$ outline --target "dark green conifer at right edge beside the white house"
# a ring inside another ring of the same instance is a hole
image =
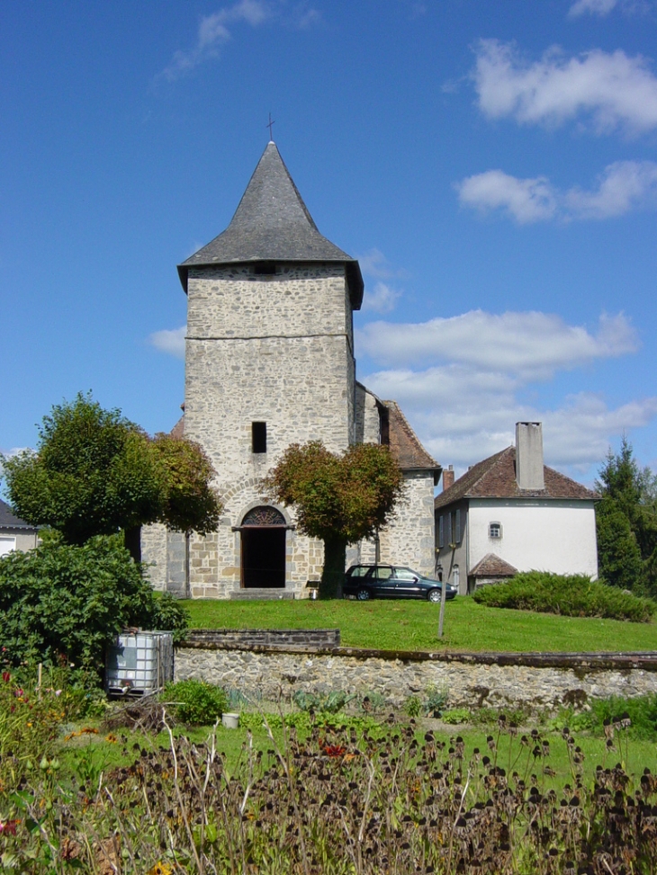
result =
[[[637,464],[624,437],[608,452],[596,481],[599,574],[623,589],[657,592],[657,512],[655,478]]]

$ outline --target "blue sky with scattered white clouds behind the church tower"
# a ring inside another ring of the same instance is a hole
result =
[[[175,271],[274,138],[361,260],[358,376],[463,470],[544,423],[657,469],[657,2],[4,0],[0,451],[184,397]]]

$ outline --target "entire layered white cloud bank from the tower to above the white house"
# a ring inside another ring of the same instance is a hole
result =
[[[554,409],[523,398],[532,384],[558,371],[637,349],[622,314],[600,317],[594,333],[552,314],[477,310],[419,325],[378,322],[356,336],[358,353],[388,366],[365,384],[379,397],[399,401],[428,450],[458,473],[509,446],[514,424],[522,420],[544,423],[549,464],[598,464],[613,437],[657,415],[657,397],[609,408],[603,397],[580,393]]]

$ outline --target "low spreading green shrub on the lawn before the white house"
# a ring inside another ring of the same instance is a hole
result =
[[[544,571],[529,571],[504,584],[483,586],[473,599],[491,608],[632,622],[650,622],[657,608],[651,599],[638,598],[585,575],[554,575]]]

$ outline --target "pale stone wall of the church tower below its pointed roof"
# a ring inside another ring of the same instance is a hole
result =
[[[193,596],[239,588],[244,514],[266,504],[261,479],[294,442],[347,449],[354,435],[351,307],[343,265],[247,265],[190,272],[184,433],[202,444],[224,500],[219,531],[190,544]],[[266,452],[252,451],[253,422]],[[289,524],[293,518],[284,513]],[[286,588],[319,579],[322,545],[286,533]]]

